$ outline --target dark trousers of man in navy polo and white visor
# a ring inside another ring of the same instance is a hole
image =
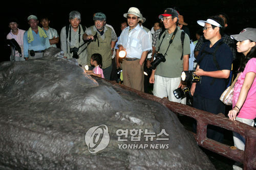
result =
[[[213,114],[225,113],[225,105],[219,99],[206,99],[199,95],[193,96],[193,107]],[[193,132],[197,132],[196,122],[193,124]],[[220,127],[208,125],[207,138],[223,142],[223,129]]]

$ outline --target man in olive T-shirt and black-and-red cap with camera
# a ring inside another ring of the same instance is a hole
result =
[[[173,93],[175,89],[186,86],[180,76],[182,70],[188,70],[190,54],[189,37],[177,27],[178,16],[178,12],[172,8],[165,9],[164,13],[159,15],[166,30],[157,40],[157,53],[156,59],[152,62],[150,83],[154,83],[155,96],[159,98],[168,96],[169,101],[185,104],[185,98],[177,99]]]

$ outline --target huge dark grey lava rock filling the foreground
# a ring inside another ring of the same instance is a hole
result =
[[[62,56],[49,48],[41,59],[0,63],[1,169],[214,169],[173,112]],[[92,127],[108,128],[91,134],[95,145],[85,141]],[[127,141],[118,139],[121,129]],[[133,129],[140,141],[132,141]],[[168,140],[146,140],[146,130],[162,129]],[[93,153],[103,140],[106,148]]]

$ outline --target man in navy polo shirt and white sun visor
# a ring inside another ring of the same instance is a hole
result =
[[[225,113],[225,105],[220,101],[220,96],[226,89],[226,79],[229,77],[232,53],[230,47],[223,42],[221,33],[224,22],[218,15],[207,20],[198,20],[203,27],[206,40],[197,56],[197,69],[194,72],[201,76],[200,82],[191,85],[193,107],[210,113]],[[196,124],[193,125],[196,132]],[[223,141],[221,128],[207,126],[207,137],[216,141]]]

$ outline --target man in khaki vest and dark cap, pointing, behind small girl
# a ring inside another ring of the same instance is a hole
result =
[[[110,80],[112,71],[112,54],[117,40],[116,33],[106,25],[106,15],[97,12],[93,16],[94,25],[83,34],[83,40],[88,42],[87,64],[91,65],[91,56],[98,53],[102,56],[102,69],[105,79]]]

